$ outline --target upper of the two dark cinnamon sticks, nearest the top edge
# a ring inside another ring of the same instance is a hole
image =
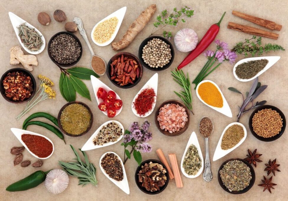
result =
[[[281,28],[282,28],[282,25],[276,24],[275,22],[272,22],[270,20],[262,19],[262,18],[259,18],[259,17],[255,17],[255,16],[252,16],[252,15],[241,13],[241,12],[238,12],[238,11],[232,11],[232,14],[237,16],[237,17],[240,17],[242,19],[246,19],[248,21],[251,21],[254,24],[258,24],[260,26],[263,26],[263,27],[265,27],[267,29],[270,29],[270,30],[274,30],[275,29],[275,30],[280,31]]]

